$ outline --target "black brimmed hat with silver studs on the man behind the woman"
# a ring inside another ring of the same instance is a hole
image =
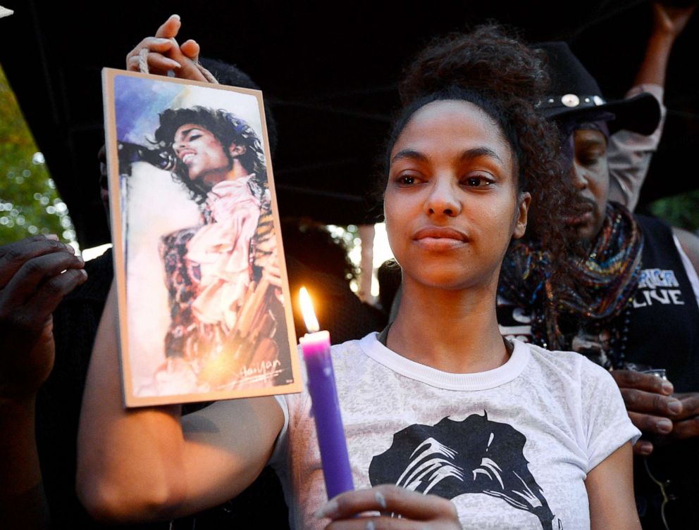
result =
[[[537,44],[548,56],[547,69],[551,77],[550,96],[539,101],[538,108],[546,118],[569,120],[586,115],[614,114],[608,125],[610,132],[629,130],[652,134],[660,122],[660,103],[652,94],[638,94],[629,99],[607,102],[602,91],[583,64],[565,42]],[[594,119],[594,118],[593,118]]]

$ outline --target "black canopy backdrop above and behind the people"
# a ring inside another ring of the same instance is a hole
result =
[[[495,19],[530,41],[561,39],[609,98],[623,96],[643,58],[650,4],[633,0],[272,2],[239,0],[0,0],[0,63],[35,134],[82,248],[109,240],[99,201],[101,68],[171,13],[179,42],[235,63],[262,87],[278,123],[274,173],[282,215],[358,223],[397,108],[397,77],[428,39]],[[695,15],[677,40],[666,85],[667,124],[641,203],[698,187],[699,50]]]

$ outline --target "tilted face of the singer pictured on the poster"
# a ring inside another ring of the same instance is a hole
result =
[[[175,156],[187,166],[191,180],[202,179],[213,185],[225,179],[230,171],[230,158],[221,142],[200,125],[187,123],[178,128],[173,150]]]

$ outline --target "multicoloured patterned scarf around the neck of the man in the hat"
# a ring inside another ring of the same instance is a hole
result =
[[[540,343],[569,349],[560,327],[562,317],[599,323],[619,315],[638,285],[641,248],[643,234],[629,210],[607,203],[604,224],[587,258],[571,258],[572,277],[564,290],[553,288],[550,255],[527,242],[506,256],[498,291],[532,311],[532,334]]]

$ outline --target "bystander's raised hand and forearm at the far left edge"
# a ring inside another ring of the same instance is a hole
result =
[[[35,398],[54,365],[51,313],[85,282],[82,259],[56,236],[0,246],[0,520],[48,528]]]

